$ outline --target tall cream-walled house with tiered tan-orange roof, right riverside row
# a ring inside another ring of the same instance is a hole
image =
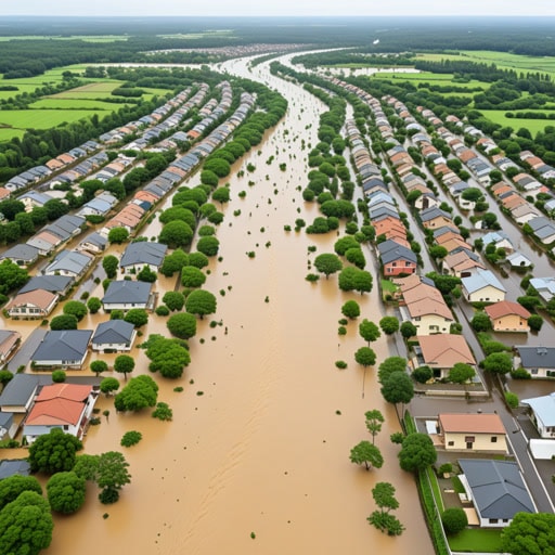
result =
[[[404,302],[404,307],[400,307],[401,315],[414,324],[417,335],[449,332],[454,318],[435,286],[413,275],[401,285],[401,295]]]

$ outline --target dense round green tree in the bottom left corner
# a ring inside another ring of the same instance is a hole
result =
[[[0,511],[0,553],[38,555],[52,542],[53,528],[48,501],[24,491]]]

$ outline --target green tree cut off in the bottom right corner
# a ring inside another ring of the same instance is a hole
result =
[[[501,548],[511,555],[554,555],[555,515],[517,513],[501,533]]]

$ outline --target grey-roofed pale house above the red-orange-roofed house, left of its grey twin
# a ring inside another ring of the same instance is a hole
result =
[[[92,330],[47,332],[31,357],[31,364],[79,370],[87,358],[91,337]]]

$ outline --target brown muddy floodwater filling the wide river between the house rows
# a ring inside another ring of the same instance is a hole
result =
[[[377,321],[377,294],[341,293],[336,276],[307,282],[308,261],[333,251],[337,236],[283,229],[318,215],[296,188],[307,183],[309,146],[302,151],[301,139],[307,145],[318,142],[325,106],[270,76],[266,64],[253,73],[243,60],[223,67],[268,81],[286,96],[289,109],[260,154],[255,149],[228,180],[232,201],[218,229],[222,260],[211,262],[205,285],[218,298],[214,320],[221,325],[199,322],[183,377],[158,378],[158,400],[172,408],[173,422],[154,420],[150,412],[116,414],[112,400],[100,400],[101,413],[108,408],[111,414],[89,429],[86,452],[124,451],[132,482],[115,505],[101,505],[90,487],[78,514],[55,517],[53,541],[43,553],[430,555],[414,478],[400,470],[399,448],[389,440],[400,429],[395,410],[382,399],[376,369],[369,369],[363,384],[363,370],[353,360],[364,346],[358,323],[348,324],[346,336],[337,334],[348,299],[361,305],[361,318]],[[274,160],[267,164],[270,156]],[[246,171],[248,163],[255,171]],[[279,168],[283,163],[285,171]],[[152,225],[155,230],[157,222]],[[153,233],[147,228],[143,234]],[[310,245],[318,247],[315,254],[308,251]],[[164,332],[165,320],[151,315],[145,335]],[[380,361],[392,345],[380,338],[373,348]],[[134,348],[132,354],[134,373],[147,373],[143,351]],[[336,369],[337,360],[348,367]],[[176,392],[176,386],[184,390]],[[349,462],[349,452],[371,439],[364,426],[371,409],[386,417],[376,438],[385,464],[365,472]],[[141,431],[143,439],[126,449],[119,441],[128,430]],[[406,527],[400,538],[366,522],[377,481],[397,488],[397,516]]]

